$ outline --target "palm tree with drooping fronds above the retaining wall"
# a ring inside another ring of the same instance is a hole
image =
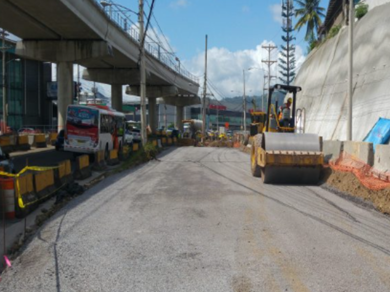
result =
[[[300,6],[295,9],[295,17],[300,17],[295,24],[298,31],[306,25],[305,40],[315,37],[318,27],[322,24],[321,17],[325,17],[325,8],[319,7],[320,0],[295,0]]]

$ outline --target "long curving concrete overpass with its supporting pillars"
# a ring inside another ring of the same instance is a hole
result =
[[[0,0],[0,27],[22,39],[16,53],[57,63],[59,129],[72,103],[75,63],[87,68],[84,79],[111,84],[115,109],[122,108],[122,85],[139,95],[139,38],[128,20],[124,13],[106,12],[98,0]],[[154,42],[145,42],[152,128],[157,97],[176,105],[178,112],[199,100],[197,78],[163,50]]]

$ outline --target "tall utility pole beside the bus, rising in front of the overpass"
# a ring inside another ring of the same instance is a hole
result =
[[[139,12],[138,12],[138,22],[139,22],[139,54],[140,54],[140,95],[141,95],[141,139],[142,145],[145,146],[148,142],[148,136],[146,133],[146,71],[145,71],[145,46],[142,43],[144,38],[144,21],[143,21],[143,0],[139,0]]]

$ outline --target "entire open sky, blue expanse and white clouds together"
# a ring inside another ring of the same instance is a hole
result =
[[[116,3],[138,10],[137,0]],[[321,0],[320,5],[327,8],[328,3],[329,0]],[[147,3],[145,12],[149,13]],[[155,0],[154,15],[182,66],[200,78],[204,74],[205,35],[208,35],[208,79],[219,92],[211,89],[217,99],[242,94],[243,70],[246,70],[247,94],[262,92],[264,72],[247,69],[265,68],[261,60],[267,55],[261,45],[282,44],[281,0]],[[160,35],[155,20],[152,26]],[[295,36],[297,67],[307,52],[304,33],[302,29]],[[278,58],[276,50],[272,58]],[[278,74],[276,69],[274,66],[273,74]]]

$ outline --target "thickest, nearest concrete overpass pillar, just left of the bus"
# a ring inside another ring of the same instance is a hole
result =
[[[66,108],[73,103],[73,63],[57,64],[57,81],[58,130],[61,130],[65,128]]]

